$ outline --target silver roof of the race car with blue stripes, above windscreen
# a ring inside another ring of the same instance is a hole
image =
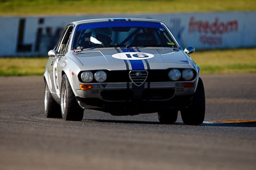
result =
[[[161,20],[153,20],[147,18],[99,18],[99,19],[91,19],[91,20],[78,20],[71,22],[70,24],[79,25],[86,24],[90,22],[120,22],[120,21],[143,21],[143,22],[162,22]]]

